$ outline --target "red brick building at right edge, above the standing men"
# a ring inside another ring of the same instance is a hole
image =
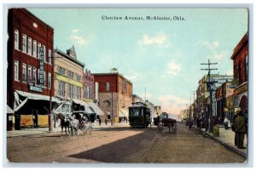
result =
[[[234,108],[247,110],[247,81],[248,81],[248,33],[241,38],[231,56],[234,67]]]

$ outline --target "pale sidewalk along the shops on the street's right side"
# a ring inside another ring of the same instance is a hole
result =
[[[219,128],[219,136],[215,137],[213,134],[209,134],[206,132],[205,128],[197,129],[201,131],[201,134],[205,134],[210,136],[213,140],[217,140],[221,145],[224,145],[225,147],[229,148],[232,151],[236,151],[236,153],[240,154],[242,157],[247,157],[247,149],[238,149],[235,145],[235,132],[233,132],[230,129],[225,129],[223,126],[218,125]],[[244,147],[247,147],[247,136],[244,136],[243,141]]]

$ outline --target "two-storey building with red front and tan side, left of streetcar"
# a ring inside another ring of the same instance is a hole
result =
[[[119,122],[128,117],[128,107],[132,102],[132,83],[115,73],[95,73],[96,100],[104,115],[102,119]]]

